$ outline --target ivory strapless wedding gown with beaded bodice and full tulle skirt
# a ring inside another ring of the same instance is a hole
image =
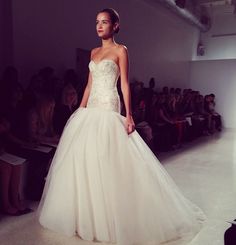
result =
[[[128,135],[118,65],[91,61],[86,108],[68,120],[39,205],[42,226],[89,241],[158,245],[193,237],[204,220],[139,134]]]

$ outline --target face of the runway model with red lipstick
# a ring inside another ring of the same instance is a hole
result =
[[[106,39],[114,34],[115,25],[112,24],[110,15],[101,12],[97,15],[96,30],[99,37]]]

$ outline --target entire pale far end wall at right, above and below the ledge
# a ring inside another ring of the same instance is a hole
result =
[[[222,114],[224,126],[236,128],[236,18],[232,6],[215,6],[209,9],[212,28],[201,33],[205,55],[193,55],[190,69],[190,87],[203,94],[214,93],[217,110]]]

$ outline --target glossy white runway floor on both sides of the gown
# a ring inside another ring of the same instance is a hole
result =
[[[208,217],[203,229],[189,245],[223,245],[224,232],[230,226],[227,221],[236,218],[236,131],[226,130],[203,137],[181,150],[162,153],[159,159],[185,196],[201,207]],[[32,205],[37,207],[37,203]],[[35,213],[0,217],[0,243],[95,244],[44,230],[36,222]]]

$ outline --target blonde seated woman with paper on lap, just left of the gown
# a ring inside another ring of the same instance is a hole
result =
[[[24,149],[24,156],[31,163],[28,165],[25,188],[26,196],[30,200],[41,198],[45,177],[55,152],[55,145],[59,141],[59,136],[53,128],[54,107],[55,100],[53,97],[41,95],[36,105],[27,114],[26,139],[30,144],[35,145],[35,147]],[[50,146],[47,152],[40,150],[42,145]]]

